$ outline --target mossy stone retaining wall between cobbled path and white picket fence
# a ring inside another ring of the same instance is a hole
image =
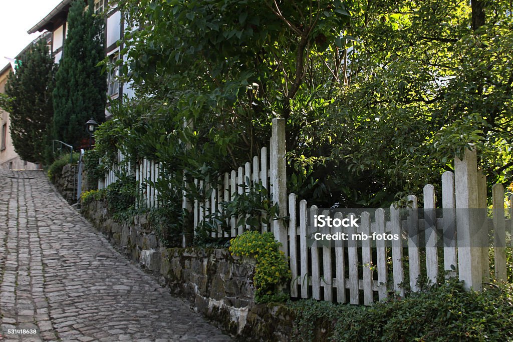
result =
[[[233,257],[226,249],[162,248],[145,216],[117,223],[103,201],[83,205],[81,212],[127,257],[221,329],[244,341],[290,340],[292,312],[254,303],[254,260]]]

